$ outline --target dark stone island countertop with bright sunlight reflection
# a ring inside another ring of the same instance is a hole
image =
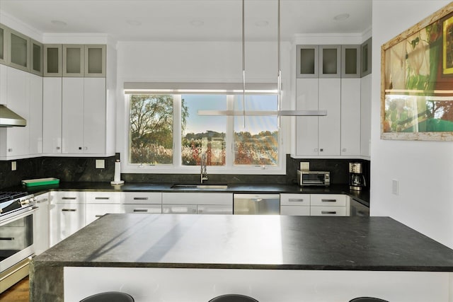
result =
[[[389,217],[107,214],[33,262],[453,272],[453,250]]]

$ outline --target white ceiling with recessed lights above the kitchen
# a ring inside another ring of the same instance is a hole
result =
[[[241,0],[0,0],[1,13],[40,33],[105,33],[118,41],[240,40],[241,10]],[[245,0],[245,20],[246,40],[275,40],[277,0]],[[364,33],[371,20],[371,0],[281,0],[282,40]]]

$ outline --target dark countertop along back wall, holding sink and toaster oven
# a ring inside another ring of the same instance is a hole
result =
[[[369,207],[369,191],[350,191],[349,185],[331,185],[330,187],[299,187],[299,185],[280,184],[228,184],[227,189],[171,188],[173,183],[129,182],[124,185],[110,185],[110,182],[60,182],[59,185],[28,187],[33,194],[48,190],[85,190],[113,192],[231,192],[231,193],[290,193],[290,194],[348,194],[358,202]],[[8,190],[23,190],[23,187],[12,187]]]

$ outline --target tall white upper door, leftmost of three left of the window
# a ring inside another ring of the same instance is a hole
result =
[[[42,153],[62,153],[62,78],[42,79]]]

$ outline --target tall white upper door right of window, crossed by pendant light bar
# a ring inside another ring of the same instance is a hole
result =
[[[297,79],[297,110],[318,110],[318,85],[319,79]],[[318,155],[318,119],[319,117],[296,117],[296,155]]]

